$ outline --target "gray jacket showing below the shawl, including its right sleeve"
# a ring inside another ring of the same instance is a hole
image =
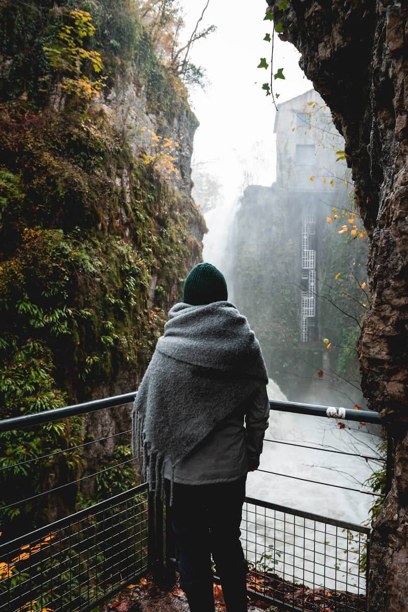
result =
[[[174,482],[204,485],[245,476],[249,465],[259,465],[268,418],[266,387],[260,383],[249,400],[218,422],[209,435],[177,464]],[[171,478],[168,461],[165,461],[164,475]]]

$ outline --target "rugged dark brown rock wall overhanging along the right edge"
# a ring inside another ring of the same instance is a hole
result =
[[[408,608],[408,2],[288,0],[278,13],[281,37],[302,53],[302,69],[344,136],[368,232],[362,388],[396,441],[391,491],[373,521],[368,600],[370,612],[401,612]]]

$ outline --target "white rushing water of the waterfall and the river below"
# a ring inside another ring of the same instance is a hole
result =
[[[220,267],[227,282],[228,228],[237,206],[231,202],[206,217],[209,233],[204,239],[204,261]],[[272,380],[268,395],[270,400],[291,400]],[[366,524],[373,496],[360,490],[366,490],[363,483],[379,464],[359,455],[375,457],[378,438],[367,433],[364,425],[346,425],[340,428],[337,420],[326,417],[271,411],[259,471],[248,474],[247,496],[320,517]],[[308,482],[311,480],[319,483]],[[248,507],[244,512],[241,526],[243,539],[251,541],[249,559],[259,559],[266,548],[275,551],[270,561],[273,570],[284,573],[287,580],[314,586],[317,572],[317,583],[324,581],[325,588],[361,591],[365,586],[358,572],[358,554],[364,552],[360,535],[300,517],[292,518],[293,524],[288,525],[288,515],[273,510],[265,510],[255,524],[253,510]],[[284,542],[279,544],[283,531]]]

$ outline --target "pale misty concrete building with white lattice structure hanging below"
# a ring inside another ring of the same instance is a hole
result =
[[[278,105],[276,134],[276,186],[295,198],[302,214],[299,236],[302,284],[300,341],[316,340],[316,274],[318,256],[317,203],[333,201],[333,192],[344,191],[344,161],[336,159],[343,138],[336,131],[330,111],[314,89]],[[343,166],[343,167],[341,167]],[[342,177],[342,178],[341,178]],[[341,185],[339,185],[339,183]]]

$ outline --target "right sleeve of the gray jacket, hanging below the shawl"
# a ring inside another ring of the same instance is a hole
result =
[[[245,444],[250,463],[259,463],[265,431],[268,428],[268,419],[269,400],[266,386],[261,384],[259,389],[251,395],[247,412],[245,412]]]

